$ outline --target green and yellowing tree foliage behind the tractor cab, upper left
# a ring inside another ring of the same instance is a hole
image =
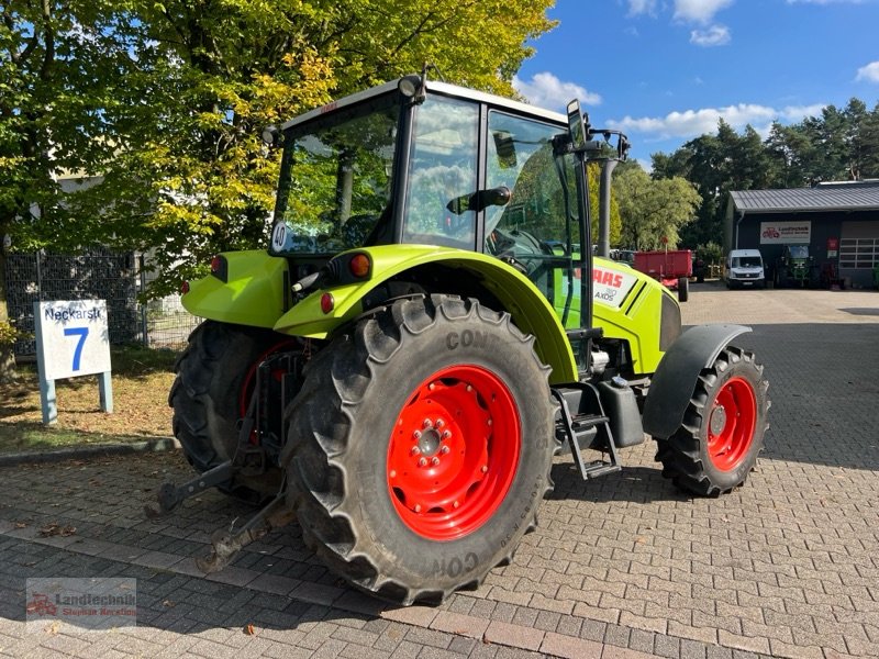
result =
[[[448,81],[514,96],[525,44],[553,26],[552,5],[7,0],[0,237],[19,249],[155,247],[164,277],[154,292],[176,289],[210,254],[264,237],[278,169],[259,143],[264,125],[425,62]],[[63,172],[100,179],[63,196]],[[0,279],[0,323],[7,313]]]

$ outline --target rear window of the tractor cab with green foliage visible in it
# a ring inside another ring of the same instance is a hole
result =
[[[396,98],[329,113],[285,135],[271,254],[360,247],[389,220]]]

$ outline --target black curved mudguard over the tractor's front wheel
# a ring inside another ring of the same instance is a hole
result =
[[[730,342],[750,332],[744,325],[698,325],[685,332],[666,351],[644,402],[644,432],[667,439],[680,427],[697,378]]]

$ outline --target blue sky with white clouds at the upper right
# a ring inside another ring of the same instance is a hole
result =
[[[515,88],[671,153],[723,118],[761,135],[858,98],[879,102],[879,0],[556,0]]]

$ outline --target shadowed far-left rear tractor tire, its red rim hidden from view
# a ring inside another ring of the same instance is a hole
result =
[[[189,345],[175,366],[177,377],[168,404],[174,407],[174,436],[198,472],[234,457],[236,424],[246,413],[256,367],[289,343],[289,337],[270,330],[215,321],[204,321],[189,336]],[[277,478],[266,482],[277,490]],[[240,482],[227,482],[220,489],[254,502],[267,494]]]

